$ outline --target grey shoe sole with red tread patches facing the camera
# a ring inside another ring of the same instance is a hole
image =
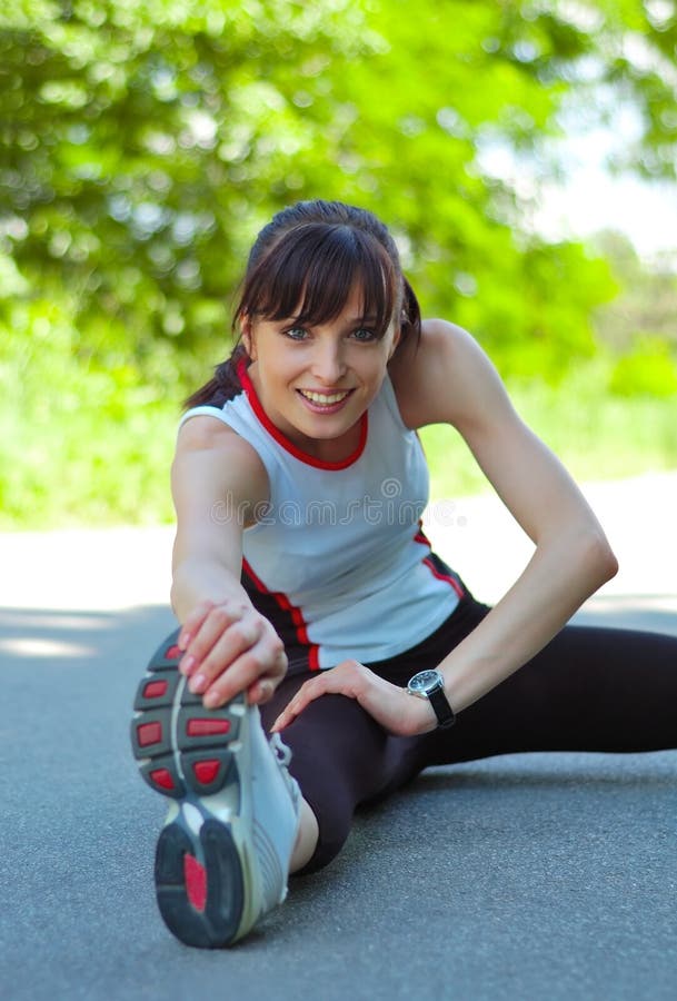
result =
[[[227,786],[240,799],[246,703],[240,695],[206,710],[179,673],[178,635],[179,630],[156,651],[137,688],[131,744],[143,780],[170,800],[155,863],[162,920],[187,945],[218,949],[240,938],[250,921],[250,866],[238,815],[242,804],[225,823],[209,802]]]

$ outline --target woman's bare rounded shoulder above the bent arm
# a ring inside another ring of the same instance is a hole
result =
[[[425,320],[418,346],[402,345],[390,363],[402,419],[409,427],[505,417],[510,403],[502,381],[480,345],[462,327]]]

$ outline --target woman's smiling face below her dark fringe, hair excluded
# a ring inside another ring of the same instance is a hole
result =
[[[263,409],[293,444],[325,459],[354,449],[399,339],[392,321],[378,329],[364,303],[356,284],[340,311],[322,323],[296,316],[242,321],[249,376]]]

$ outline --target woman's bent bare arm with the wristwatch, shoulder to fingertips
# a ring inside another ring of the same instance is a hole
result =
[[[617,563],[583,494],[520,420],[496,369],[465,330],[428,321],[419,349],[407,345],[396,358],[391,375],[405,423],[414,428],[454,425],[536,545],[507,594],[439,665],[449,702],[459,712],[538,653],[616,573]],[[296,696],[281,725],[323,688],[358,698],[392,732],[434,729],[429,705],[386,688],[370,674],[352,662],[333,678],[313,680],[308,692]]]

